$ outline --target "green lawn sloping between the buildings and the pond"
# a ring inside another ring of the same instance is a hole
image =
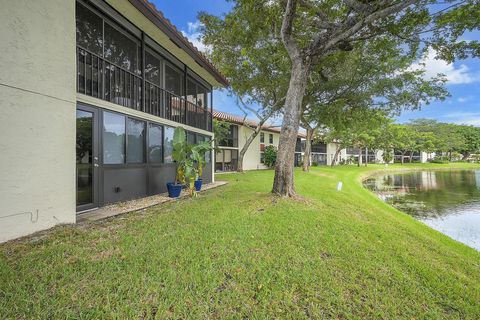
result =
[[[0,318],[479,319],[480,253],[363,189],[375,170],[298,171],[303,201],[272,197],[272,171],[228,174],[194,200],[0,245]]]

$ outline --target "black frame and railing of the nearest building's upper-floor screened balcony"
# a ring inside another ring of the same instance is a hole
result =
[[[154,39],[145,35],[140,28],[130,23],[108,4],[77,0],[75,5],[82,6],[86,11],[99,18],[102,25],[101,55],[95,56],[97,53],[90,53],[90,51],[87,48],[84,48],[81,43],[76,42],[78,93],[139,110],[179,124],[189,125],[209,132],[213,131],[213,88],[206,80],[171,55],[168,50],[164,49]],[[136,58],[134,59],[135,68],[133,68],[133,70],[115,64],[110,58],[105,58],[105,24],[128,38],[128,40],[134,42]],[[152,82],[152,79],[147,79],[145,72],[146,53],[160,60],[160,84]],[[174,118],[172,118],[172,115],[167,110],[169,107],[165,102],[165,94],[153,94],[154,99],[156,99],[156,104],[148,105],[149,101],[146,101],[147,98],[145,91],[150,90],[146,84],[147,82],[158,86],[159,89],[156,90],[161,89],[167,91],[166,66],[179,75],[180,87],[179,92],[175,92],[175,95],[182,99],[179,103],[179,108],[185,109],[181,111],[181,116]],[[91,72],[89,72],[90,69],[92,70]],[[132,73],[132,75],[125,74],[125,72]],[[194,104],[198,107],[199,95],[203,96],[204,101],[201,107],[204,108],[204,110],[198,108],[187,110],[187,78],[195,83]],[[119,87],[120,90],[117,91],[116,88]],[[157,105],[159,105],[158,108],[156,107]]]

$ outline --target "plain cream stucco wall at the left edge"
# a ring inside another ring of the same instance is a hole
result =
[[[75,1],[0,10],[0,242],[75,222]]]

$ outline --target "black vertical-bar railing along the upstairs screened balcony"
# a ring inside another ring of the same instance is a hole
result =
[[[208,108],[166,91],[80,47],[77,47],[77,92],[195,128],[213,130],[212,113]]]

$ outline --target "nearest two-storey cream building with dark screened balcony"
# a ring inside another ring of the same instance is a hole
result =
[[[173,129],[212,139],[227,81],[146,0],[8,1],[0,30],[0,241],[165,192]]]

